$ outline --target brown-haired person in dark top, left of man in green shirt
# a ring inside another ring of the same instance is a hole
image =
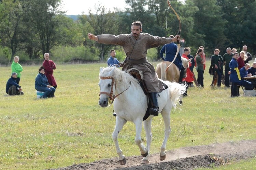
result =
[[[217,86],[221,87],[221,77],[223,74],[223,60],[222,57],[219,55],[219,49],[214,50],[214,55],[211,57],[211,65],[214,67],[218,75],[218,83]]]

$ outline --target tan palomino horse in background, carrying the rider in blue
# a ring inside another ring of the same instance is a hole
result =
[[[187,60],[186,58],[181,57],[181,60],[182,60],[182,65],[185,68],[185,73],[187,73],[187,68],[188,68],[189,62],[192,60],[192,58]],[[158,77],[162,80],[168,80],[170,82],[177,82],[177,81],[179,81],[180,70],[175,64],[172,63],[172,65],[168,68],[168,70],[165,74],[165,70],[170,64],[171,64],[171,62],[168,62],[168,61],[159,63],[156,67],[156,73],[157,73]],[[182,96],[180,97],[179,103],[180,104],[182,103]]]

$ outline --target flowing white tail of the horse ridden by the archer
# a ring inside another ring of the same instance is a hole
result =
[[[169,87],[168,89],[172,106],[176,108],[176,104],[179,101],[181,95],[186,92],[186,85],[169,81],[165,81],[165,84],[167,84]]]

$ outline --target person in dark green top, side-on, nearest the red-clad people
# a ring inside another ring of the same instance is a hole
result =
[[[195,60],[196,60],[196,70],[197,70],[197,82],[198,84],[203,87],[203,73],[204,73],[204,59],[201,57],[201,55],[203,54],[203,49],[199,48],[197,50],[197,53],[196,53],[196,57],[195,57]]]

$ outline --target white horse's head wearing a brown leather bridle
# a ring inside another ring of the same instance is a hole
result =
[[[112,69],[111,69],[112,68]],[[99,105],[101,107],[108,106],[108,101],[112,100],[112,97],[115,93],[115,86],[114,86],[114,71],[115,67],[108,67],[108,68],[100,68],[100,100]],[[111,71],[109,71],[111,70]],[[109,72],[107,72],[109,71]]]

